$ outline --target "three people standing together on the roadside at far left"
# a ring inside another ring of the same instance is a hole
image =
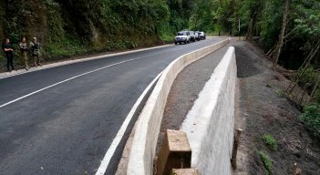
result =
[[[15,70],[14,67],[14,57],[15,57],[15,49],[14,46],[10,43],[9,38],[5,38],[5,43],[2,46],[2,49],[5,52],[5,57],[6,57],[6,70],[8,72],[11,72],[12,70]],[[19,43],[19,49],[21,56],[25,60],[25,68],[28,70],[29,64],[28,64],[28,56],[31,55],[35,59],[35,66],[42,67],[40,63],[40,44],[36,41],[36,37],[32,39],[30,42],[29,46],[26,44],[26,37],[22,36],[20,43]]]

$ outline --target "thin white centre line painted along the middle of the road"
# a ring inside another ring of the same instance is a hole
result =
[[[157,54],[155,54],[155,55],[150,55],[150,56],[145,56],[145,57],[151,57],[151,56],[156,56],[156,55],[157,55]],[[94,73],[94,72],[97,72],[97,71],[99,71],[99,70],[102,70],[102,69],[105,69],[105,68],[108,68],[108,67],[114,67],[114,66],[117,66],[117,65],[120,65],[120,64],[123,64],[123,63],[127,63],[127,62],[130,62],[130,61],[138,60],[138,59],[145,58],[145,57],[132,58],[132,59],[129,59],[129,60],[126,60],[126,61],[121,61],[121,62],[119,62],[119,63],[115,63],[115,64],[112,64],[112,65],[109,65],[109,66],[106,66],[106,67],[100,67],[100,68],[97,68],[97,69],[95,69],[95,70],[88,71],[88,72],[86,72],[86,73],[80,74],[80,75],[75,76],[75,77],[67,78],[67,79],[65,79],[65,80],[63,80],[63,81],[57,82],[57,83],[55,83],[55,84],[53,84],[53,85],[50,85],[50,86],[48,86],[48,87],[46,87],[46,88],[41,88],[41,89],[38,89],[38,90],[36,90],[36,91],[34,91],[34,92],[31,92],[31,93],[29,93],[29,94],[27,94],[26,96],[23,96],[23,97],[21,97],[21,98],[15,98],[14,100],[9,101],[9,102],[1,105],[0,108],[4,108],[4,107],[6,107],[6,106],[8,106],[8,105],[10,105],[10,104],[12,104],[12,103],[15,103],[16,101],[19,101],[19,100],[21,100],[21,99],[30,97],[30,96],[32,96],[32,95],[35,95],[36,93],[39,93],[39,92],[41,92],[41,91],[44,91],[44,90],[46,90],[46,89],[48,89],[48,88],[56,87],[57,85],[60,85],[60,84],[62,84],[62,83],[65,83],[65,82],[67,82],[67,81],[70,81],[70,80],[72,80],[72,79],[75,79],[75,78],[77,78],[77,77],[83,77],[83,76],[86,76],[86,75],[88,75],[88,74],[90,74],[90,73]]]

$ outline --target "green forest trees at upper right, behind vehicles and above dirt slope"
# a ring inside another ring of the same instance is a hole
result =
[[[320,102],[319,18],[318,0],[196,0],[190,26],[256,41],[274,64],[299,69],[293,81]]]

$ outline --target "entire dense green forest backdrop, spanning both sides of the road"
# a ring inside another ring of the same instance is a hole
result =
[[[274,63],[297,70],[294,82],[316,101],[319,19],[319,0],[4,0],[0,37],[16,45],[21,36],[36,36],[43,58],[51,61],[172,42],[183,28],[243,36]],[[16,64],[22,64],[16,54]]]

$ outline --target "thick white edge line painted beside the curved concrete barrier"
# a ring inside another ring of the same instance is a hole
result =
[[[108,168],[108,163],[110,162],[113,154],[115,153],[115,151],[116,151],[116,149],[117,149],[117,147],[119,145],[119,142],[123,138],[123,135],[125,134],[126,129],[128,128],[128,125],[129,125],[129,122],[130,122],[131,118],[135,114],[135,112],[136,112],[137,108],[139,107],[139,104],[141,103],[142,99],[147,95],[147,93],[150,90],[150,88],[157,82],[157,80],[160,77],[160,75],[161,75],[161,73],[152,80],[150,85],[142,92],[142,94],[140,95],[140,97],[138,98],[138,100],[136,101],[134,106],[129,111],[129,114],[128,114],[127,118],[124,120],[124,122],[122,123],[121,128],[119,129],[116,138],[113,139],[110,147],[107,150],[107,153],[106,153],[105,157],[101,161],[101,164],[100,164],[100,166],[98,168],[98,171],[96,172],[96,175],[103,175],[106,172],[106,170]]]

